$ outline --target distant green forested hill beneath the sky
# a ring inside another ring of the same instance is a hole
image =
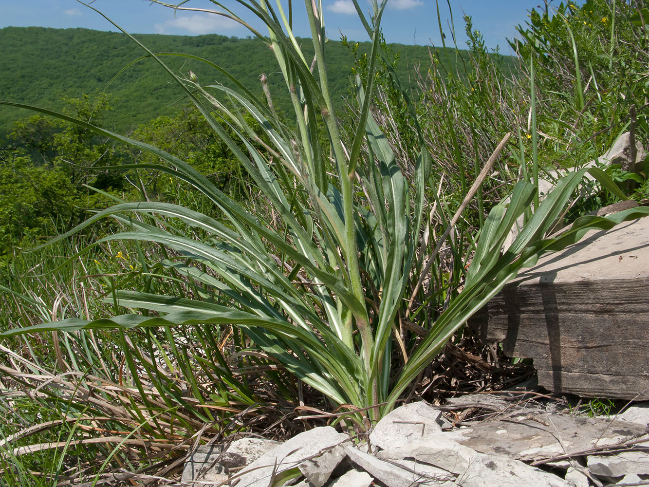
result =
[[[167,36],[140,34],[136,36],[154,52],[186,53],[206,58],[227,69],[253,92],[262,95],[259,76],[267,73],[271,94],[285,91],[277,73],[275,59],[260,40],[229,38],[217,34],[203,36]],[[64,97],[79,98],[95,94],[122,68],[144,53],[127,36],[117,32],[89,29],[45,29],[42,27],[6,27],[0,29],[0,99],[29,103],[60,110]],[[305,53],[310,40],[302,42]],[[360,52],[369,43],[360,45]],[[398,71],[405,82],[414,82],[412,68],[428,69],[428,47],[391,45],[400,52]],[[455,53],[451,54],[453,58]],[[210,84],[223,75],[196,60],[165,57],[175,72],[194,71],[201,84]],[[328,44],[329,76],[334,99],[342,104],[347,95],[354,55],[339,41]],[[424,71],[425,72],[425,71]],[[409,81],[410,80],[410,81]],[[126,69],[107,89],[114,108],[106,123],[118,131],[128,131],[140,123],[162,114],[171,114],[182,105],[178,86],[151,58]],[[282,106],[282,100],[276,103]],[[286,101],[284,101],[286,106]],[[12,122],[29,115],[25,110],[0,106],[0,140],[12,129]]]

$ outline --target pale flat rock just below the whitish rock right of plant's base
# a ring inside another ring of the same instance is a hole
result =
[[[380,451],[376,456],[382,460],[392,461],[411,458],[459,474],[469,468],[478,453],[440,434],[432,440],[417,440],[410,445]]]

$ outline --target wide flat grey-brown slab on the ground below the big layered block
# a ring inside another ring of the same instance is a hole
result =
[[[578,453],[596,445],[615,445],[643,433],[641,425],[627,421],[537,414],[479,423],[443,432],[441,436],[480,453],[496,453],[525,461]]]

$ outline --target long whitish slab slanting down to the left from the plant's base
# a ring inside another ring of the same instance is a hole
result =
[[[329,426],[314,428],[293,436],[271,451],[260,456],[241,473],[238,487],[267,487],[275,473],[297,468],[311,457],[322,456],[327,450],[345,441],[349,436]]]

